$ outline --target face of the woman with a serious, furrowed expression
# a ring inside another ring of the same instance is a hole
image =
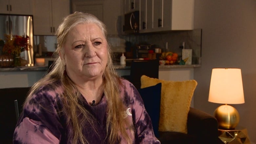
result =
[[[74,80],[101,78],[107,65],[107,40],[94,23],[78,24],[66,37],[64,57],[68,76]]]

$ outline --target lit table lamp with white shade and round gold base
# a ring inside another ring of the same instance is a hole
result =
[[[240,116],[238,111],[227,104],[245,103],[241,69],[212,69],[209,102],[225,104],[214,111],[221,129],[235,129]]]

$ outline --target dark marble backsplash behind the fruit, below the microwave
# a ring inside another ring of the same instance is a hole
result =
[[[193,57],[201,57],[202,29],[126,35],[124,39],[130,41],[133,47],[145,44],[155,45],[162,52],[172,51],[177,52],[178,55],[181,55],[182,43],[184,42],[185,49],[192,49]]]

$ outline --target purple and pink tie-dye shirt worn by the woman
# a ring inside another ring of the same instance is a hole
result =
[[[137,144],[160,144],[155,137],[151,120],[146,112],[143,101],[137,89],[127,80],[122,80],[120,86],[120,96],[123,99],[126,109],[122,110],[124,118],[127,118],[132,127],[135,127],[135,134],[127,129],[127,133]],[[25,103],[13,135],[13,143],[21,144],[57,144],[72,143],[72,128],[66,124],[66,116],[61,112],[63,103],[59,93],[63,93],[62,86],[53,89],[50,86],[42,87],[33,94],[28,103]],[[107,100],[103,95],[101,101],[96,106],[90,106],[81,95],[79,102],[95,118],[92,125],[85,125],[82,133],[88,143],[107,144],[106,118],[108,112]],[[120,137],[120,143],[126,143]]]

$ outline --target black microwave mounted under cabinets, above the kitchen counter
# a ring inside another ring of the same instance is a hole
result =
[[[139,10],[124,14],[125,33],[138,33],[139,32]]]

